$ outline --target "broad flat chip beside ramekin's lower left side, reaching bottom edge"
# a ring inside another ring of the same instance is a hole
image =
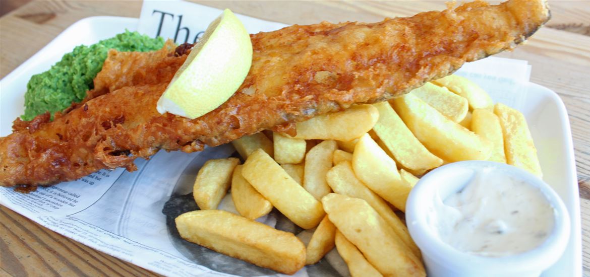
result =
[[[330,193],[322,204],[342,235],[384,276],[425,276],[422,262],[365,200]]]

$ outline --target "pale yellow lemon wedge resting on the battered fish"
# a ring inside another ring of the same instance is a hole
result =
[[[235,93],[252,64],[250,34],[230,9],[192,48],[158,100],[158,112],[191,119],[215,110]]]

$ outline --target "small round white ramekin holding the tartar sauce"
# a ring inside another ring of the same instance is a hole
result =
[[[434,226],[428,223],[429,217],[437,212],[436,200],[444,200],[463,188],[473,177],[474,169],[490,166],[538,187],[555,208],[555,226],[542,245],[517,255],[478,256],[461,252],[443,242]],[[405,216],[409,233],[422,250],[428,276],[539,276],[561,257],[570,226],[568,211],[547,183],[525,170],[493,161],[460,161],[425,174],[408,196]]]

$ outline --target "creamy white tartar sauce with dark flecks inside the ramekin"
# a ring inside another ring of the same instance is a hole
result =
[[[438,202],[431,224],[440,238],[480,256],[536,248],[555,225],[553,206],[539,189],[493,167],[477,170],[463,189]]]

